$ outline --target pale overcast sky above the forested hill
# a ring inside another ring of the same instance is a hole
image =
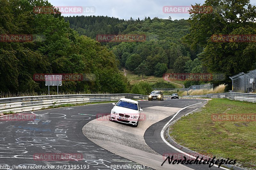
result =
[[[88,7],[84,10],[88,13],[74,14],[62,14],[63,16],[76,16],[76,15],[100,15],[117,17],[121,19],[134,19],[145,17],[158,17],[167,19],[169,16],[172,19],[188,19],[188,13],[164,13],[164,6],[188,7],[191,4],[203,4],[204,0],[48,0],[54,6],[81,6]],[[256,0],[251,0],[252,5],[256,5]],[[72,10],[71,10],[72,11]]]

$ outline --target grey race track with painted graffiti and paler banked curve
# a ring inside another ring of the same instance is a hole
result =
[[[27,166],[27,169],[34,166],[35,169],[54,170],[209,169],[207,165],[175,166],[168,162],[161,166],[164,161],[162,155],[174,152],[160,137],[164,125],[180,108],[205,101],[169,98],[140,101],[142,113],[153,116],[140,121],[137,128],[104,118],[113,107],[111,103],[27,112],[16,114],[16,117],[1,116],[0,169],[26,169],[19,165]],[[203,104],[184,109],[175,119]],[[84,136],[83,127],[84,134],[91,140]],[[120,133],[116,133],[117,130]],[[123,148],[122,152],[117,152],[117,148]],[[220,168],[212,166],[210,169]]]

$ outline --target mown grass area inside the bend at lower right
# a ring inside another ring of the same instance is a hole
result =
[[[237,159],[256,169],[256,122],[214,122],[212,114],[255,114],[255,103],[212,99],[200,111],[185,116],[170,128],[170,135],[189,149],[217,158]]]

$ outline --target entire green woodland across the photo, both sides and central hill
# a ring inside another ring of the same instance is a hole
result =
[[[137,92],[122,67],[139,75],[224,73],[229,76],[256,68],[255,42],[213,42],[213,34],[256,34],[256,7],[249,0],[207,0],[222,6],[211,13],[191,13],[188,20],[73,16],[35,13],[46,0],[0,0],[0,34],[38,34],[45,40],[0,42],[0,92],[46,92],[35,73],[93,74],[88,81],[63,81],[62,92]],[[98,42],[98,34],[145,34],[143,42]],[[190,81],[187,85],[206,82]],[[148,91],[147,90],[147,91]],[[146,92],[146,91],[145,91]]]

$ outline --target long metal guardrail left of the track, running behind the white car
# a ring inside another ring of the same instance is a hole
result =
[[[0,98],[0,114],[4,112],[28,112],[39,110],[43,107],[62,104],[78,104],[98,101],[113,101],[121,98],[127,99],[148,99],[148,96],[141,94],[72,94],[54,96],[27,96]]]

